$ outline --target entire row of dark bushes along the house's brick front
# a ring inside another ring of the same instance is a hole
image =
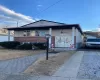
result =
[[[46,49],[46,43],[24,43],[20,44],[17,41],[5,41],[0,42],[0,46],[7,49],[20,49],[20,50],[31,50],[31,49]]]

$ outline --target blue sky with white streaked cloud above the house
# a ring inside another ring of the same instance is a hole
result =
[[[40,19],[80,24],[82,30],[100,27],[100,0],[57,1],[0,0],[0,27],[16,27],[17,23],[21,26]]]

